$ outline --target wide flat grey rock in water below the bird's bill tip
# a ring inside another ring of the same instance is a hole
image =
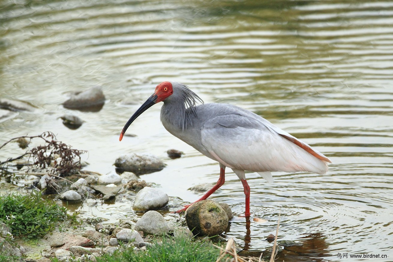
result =
[[[116,159],[115,166],[120,171],[129,171],[136,175],[149,174],[162,170],[165,164],[151,154],[121,155]]]

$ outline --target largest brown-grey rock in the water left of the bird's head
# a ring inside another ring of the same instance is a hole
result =
[[[80,111],[98,112],[104,106],[105,96],[101,87],[92,87],[83,92],[71,94],[70,99],[63,103],[68,109],[77,109]]]

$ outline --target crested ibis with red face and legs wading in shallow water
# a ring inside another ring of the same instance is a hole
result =
[[[249,217],[250,186],[245,170],[257,172],[268,182],[273,182],[270,172],[323,174],[331,163],[329,158],[261,116],[234,105],[205,104],[187,86],[174,81],[157,85],[154,94],[125,124],[119,140],[140,114],[161,101],[160,118],[165,129],[220,164],[217,184],[195,202],[206,199],[224,184],[225,168],[228,167],[243,184],[246,195],[244,216]],[[196,105],[197,102],[201,104]],[[190,205],[176,212],[185,211]]]

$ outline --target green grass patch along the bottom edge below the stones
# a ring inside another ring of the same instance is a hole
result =
[[[152,244],[146,251],[135,252],[134,249],[127,248],[113,255],[97,257],[97,262],[215,262],[220,255],[219,249],[206,240],[163,236]]]

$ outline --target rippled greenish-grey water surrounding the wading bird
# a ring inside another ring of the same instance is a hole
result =
[[[191,202],[199,196],[187,188],[214,184],[219,166],[165,131],[159,105],[131,125],[137,137],[118,141],[158,83],[179,81],[205,102],[260,114],[333,162],[327,175],[277,172],[272,184],[246,174],[252,216],[268,222],[231,223],[226,236],[245,254],[272,245],[264,239],[281,213],[280,239],[303,247],[288,248],[280,261],[359,260],[349,257],[355,254],[393,261],[392,24],[391,1],[3,0],[0,96],[35,110],[0,111],[0,144],[52,131],[88,150],[88,170],[99,173],[113,171],[121,153],[153,153],[168,166],[143,179]],[[94,85],[107,98],[101,111],[62,107],[68,92]],[[85,122],[67,129],[58,119],[64,113]],[[185,156],[169,159],[170,148]],[[20,152],[10,145],[0,159]],[[211,199],[244,212],[242,185],[230,170]],[[83,211],[110,221],[133,214],[110,203]]]

